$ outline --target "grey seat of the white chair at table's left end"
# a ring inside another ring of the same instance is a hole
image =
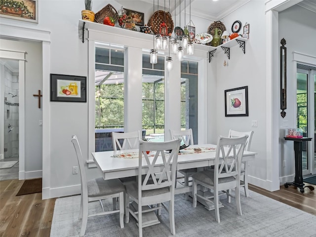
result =
[[[88,197],[100,197],[125,191],[124,185],[118,179],[91,179],[87,182]]]

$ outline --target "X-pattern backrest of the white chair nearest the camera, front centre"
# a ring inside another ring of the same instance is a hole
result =
[[[174,186],[178,151],[181,139],[167,142],[146,142],[140,141],[139,145],[139,191],[154,190]],[[169,154],[166,151],[171,150]],[[146,151],[150,151],[148,155]],[[155,154],[153,156],[153,154]],[[145,160],[145,162],[144,162]],[[148,167],[145,178],[142,178],[143,165]],[[162,163],[162,172],[156,172],[155,167]],[[174,189],[174,187],[173,187]]]

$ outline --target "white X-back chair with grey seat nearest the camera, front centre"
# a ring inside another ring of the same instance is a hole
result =
[[[165,208],[169,212],[170,232],[175,235],[174,188],[180,142],[180,139],[167,142],[140,141],[138,180],[125,185],[125,223],[129,222],[129,213],[131,213],[138,222],[139,237],[143,235],[143,212],[158,210],[159,214],[161,208]],[[170,154],[165,152],[168,150],[171,150]],[[150,154],[147,154],[146,151],[150,151]],[[156,172],[155,165],[161,162],[163,170]],[[146,173],[142,176],[144,170]],[[130,197],[138,205],[136,210],[130,208]],[[166,201],[169,202],[168,208],[163,203]],[[157,206],[154,207],[155,204]],[[149,205],[151,205],[150,209],[144,208],[143,210],[143,206],[148,207]]]

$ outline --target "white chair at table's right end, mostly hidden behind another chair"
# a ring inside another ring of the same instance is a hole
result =
[[[241,132],[235,130],[229,130],[228,137],[242,137],[244,135],[248,135],[245,151],[250,151],[251,139],[254,131],[249,132]],[[242,161],[241,163],[241,179],[240,179],[240,187],[244,187],[245,196],[249,197],[249,189],[248,189],[248,170],[249,170],[249,161]]]

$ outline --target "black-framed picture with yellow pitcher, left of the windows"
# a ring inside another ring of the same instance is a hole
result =
[[[50,74],[50,101],[86,102],[86,77]]]

